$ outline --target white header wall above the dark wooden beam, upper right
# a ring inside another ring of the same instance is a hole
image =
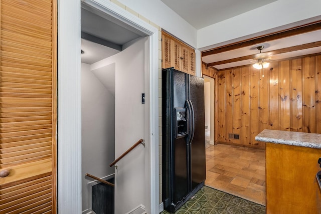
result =
[[[198,30],[197,48],[208,50],[320,19],[319,0],[278,0]]]

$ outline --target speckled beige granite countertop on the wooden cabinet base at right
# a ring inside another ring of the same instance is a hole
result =
[[[321,149],[321,134],[264,129],[255,140]]]

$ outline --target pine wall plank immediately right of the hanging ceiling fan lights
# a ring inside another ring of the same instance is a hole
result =
[[[270,83],[269,83],[269,129],[279,130],[279,72],[278,63],[270,63]]]

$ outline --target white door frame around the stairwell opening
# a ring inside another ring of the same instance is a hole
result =
[[[81,213],[81,3],[148,36],[145,86],[150,96],[146,139],[147,213],[159,213],[158,29],[110,1],[58,0],[58,213]]]

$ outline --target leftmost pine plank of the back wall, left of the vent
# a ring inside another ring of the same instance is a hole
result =
[[[219,142],[226,141],[226,92],[225,92],[225,71],[218,72],[218,118],[219,118]]]

